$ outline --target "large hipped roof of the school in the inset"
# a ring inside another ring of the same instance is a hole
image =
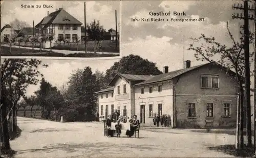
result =
[[[75,17],[70,15],[67,11],[60,8],[59,10],[50,13],[48,16],[44,17],[35,27],[39,24],[44,24],[44,28],[48,28],[50,24],[82,24]]]

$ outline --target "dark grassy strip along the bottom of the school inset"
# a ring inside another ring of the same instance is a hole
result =
[[[59,52],[50,52],[49,50],[33,50],[27,48],[12,48],[12,53],[10,54],[10,47],[2,46],[1,56],[40,56],[40,57],[75,57],[75,58],[90,58],[90,57],[116,57],[119,55],[109,55],[109,54],[94,54],[94,53],[73,53],[73,54],[62,54]]]

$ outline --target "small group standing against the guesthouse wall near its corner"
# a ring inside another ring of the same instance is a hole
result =
[[[162,115],[154,114],[153,118],[154,125],[159,127],[161,124],[162,127],[170,127],[171,126],[171,120],[170,115]]]

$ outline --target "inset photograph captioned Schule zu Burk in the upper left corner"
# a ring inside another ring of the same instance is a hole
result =
[[[120,1],[2,2],[1,56],[120,56],[119,8]]]

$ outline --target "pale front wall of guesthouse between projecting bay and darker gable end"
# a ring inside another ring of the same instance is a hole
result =
[[[158,85],[162,85],[162,91],[158,92]],[[153,92],[149,93],[149,88],[153,87]],[[144,88],[144,94],[141,94]],[[153,115],[158,114],[158,103],[162,103],[162,115],[170,115],[173,118],[173,88],[168,82],[135,87],[135,113],[141,120],[141,104],[145,105],[145,123],[153,124],[153,117],[150,117],[149,104],[153,104]],[[143,123],[143,122],[141,122]]]

